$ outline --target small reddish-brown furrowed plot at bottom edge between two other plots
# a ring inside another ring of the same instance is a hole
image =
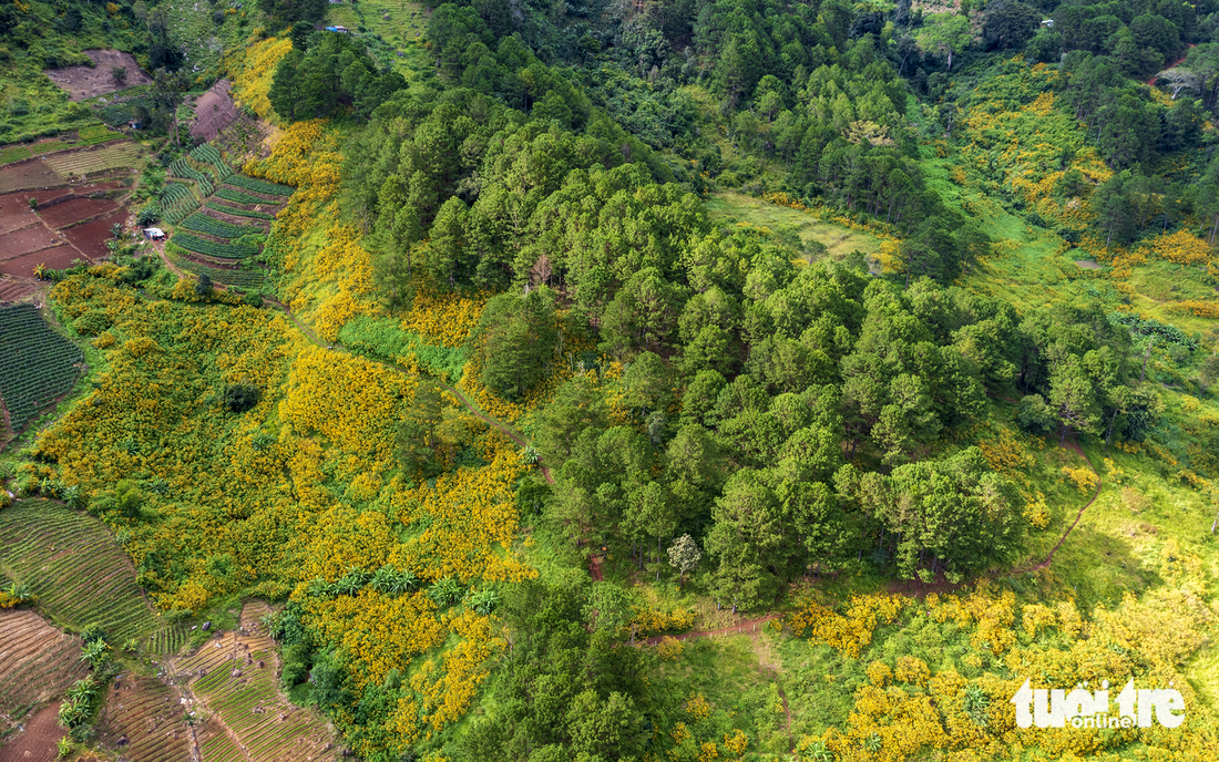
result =
[[[178,694],[156,678],[115,678],[98,718],[99,745],[132,762],[190,758],[190,729]]]

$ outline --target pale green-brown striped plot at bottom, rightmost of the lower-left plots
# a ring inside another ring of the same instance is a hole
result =
[[[321,718],[279,693],[274,641],[258,623],[268,611],[266,604],[247,602],[241,629],[217,635],[194,656],[174,663],[176,673],[190,675],[190,691],[211,713],[207,725],[216,724],[204,728],[204,760],[335,760],[333,739]],[[244,755],[229,756],[233,741],[226,744],[222,730],[240,744]]]

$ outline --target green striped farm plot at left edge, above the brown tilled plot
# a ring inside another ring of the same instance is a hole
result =
[[[98,623],[110,643],[161,627],[135,585],[127,554],[87,513],[46,500],[0,511],[0,563],[30,586],[54,619],[73,627]]]

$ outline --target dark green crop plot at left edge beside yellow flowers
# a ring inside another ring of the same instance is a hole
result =
[[[80,350],[51,330],[33,305],[0,307],[0,397],[21,430],[72,389]]]

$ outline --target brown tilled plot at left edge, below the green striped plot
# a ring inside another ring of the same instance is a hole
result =
[[[12,722],[89,672],[80,639],[28,610],[0,610],[0,718]]]

